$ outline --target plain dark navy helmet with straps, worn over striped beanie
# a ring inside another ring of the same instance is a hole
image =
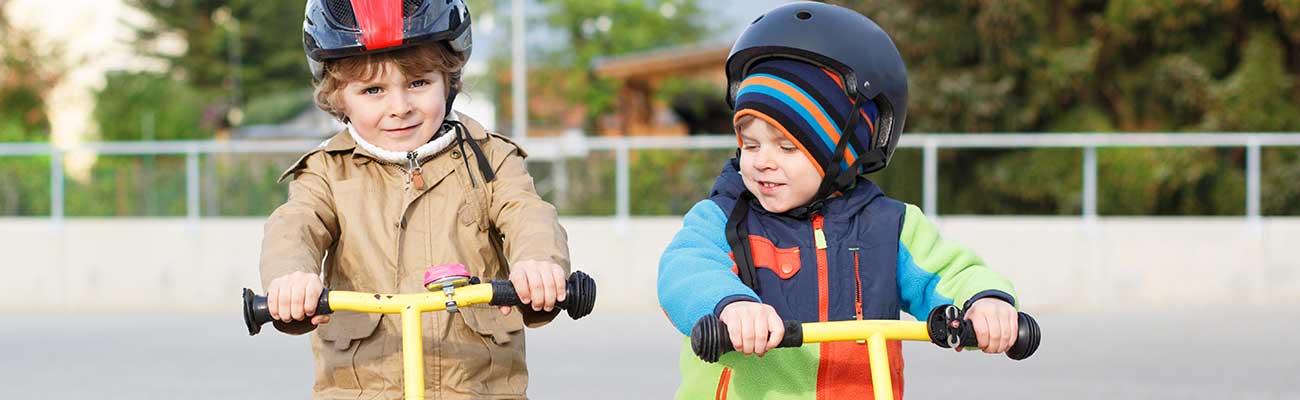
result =
[[[840,126],[846,134],[837,140],[833,156],[822,165],[826,175],[816,195],[807,204],[784,213],[807,218],[820,212],[831,195],[852,188],[858,175],[879,171],[889,164],[907,119],[907,66],[889,34],[866,16],[838,5],[790,3],[759,16],[732,45],[725,65],[728,106],[734,110],[736,92],[750,68],[775,57],[809,62],[838,74],[853,109],[874,101],[879,110],[875,131],[864,144],[848,134],[861,119],[861,113],[850,113]],[[845,169],[841,164],[849,144],[859,149],[861,157]],[[740,160],[740,149],[736,160]],[[727,218],[727,242],[736,252],[741,282],[758,290],[746,223],[751,200],[753,194],[741,192]]]

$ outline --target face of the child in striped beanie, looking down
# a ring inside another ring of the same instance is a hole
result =
[[[812,200],[822,174],[789,138],[762,119],[737,134],[741,179],[764,209],[784,213]]]

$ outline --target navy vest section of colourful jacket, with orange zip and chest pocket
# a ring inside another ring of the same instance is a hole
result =
[[[727,162],[710,200],[731,214],[745,192],[736,160]],[[822,209],[826,248],[826,294],[819,290],[818,248],[812,218],[793,218],[750,201],[748,229],[760,300],[784,319],[820,321],[826,296],[827,321],[898,319],[898,235],[905,206],[866,178]]]

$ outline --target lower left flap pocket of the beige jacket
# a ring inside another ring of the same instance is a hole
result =
[[[367,365],[359,360],[358,348],[361,342],[374,335],[380,316],[355,312],[338,312],[330,316],[330,322],[316,329],[320,339],[317,348],[316,386],[341,390],[360,390],[359,368]]]

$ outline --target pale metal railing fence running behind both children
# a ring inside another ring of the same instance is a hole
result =
[[[295,155],[316,147],[316,140],[234,140],[234,142],[105,142],[58,148],[46,143],[0,143],[0,156],[49,156],[49,217],[55,222],[64,218],[64,156],[70,152],[96,155],[155,155],[186,157],[186,217],[200,217],[199,182],[200,156],[218,153],[237,155]],[[523,140],[530,153],[530,162],[556,161],[563,169],[566,158],[584,157],[590,151],[615,153],[615,216],[629,217],[630,151],[641,149],[727,149],[736,147],[731,135],[679,136],[679,138],[530,138]],[[1078,148],[1083,157],[1082,217],[1097,216],[1097,148],[1188,148],[1217,147],[1245,149],[1245,218],[1258,221],[1260,210],[1260,149],[1262,147],[1300,147],[1300,132],[1196,132],[1196,134],[907,134],[901,148],[920,148],[923,158],[923,209],[939,214],[939,151],[945,148]],[[564,179],[563,173],[556,174]],[[564,183],[562,182],[560,186]]]

